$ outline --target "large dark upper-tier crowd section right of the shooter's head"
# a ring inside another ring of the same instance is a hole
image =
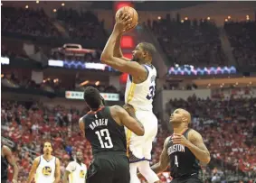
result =
[[[147,22],[172,64],[227,65],[219,31],[211,21],[161,19]]]

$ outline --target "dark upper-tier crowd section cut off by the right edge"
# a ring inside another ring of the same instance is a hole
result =
[[[256,66],[256,22],[229,22],[224,24],[239,66]]]

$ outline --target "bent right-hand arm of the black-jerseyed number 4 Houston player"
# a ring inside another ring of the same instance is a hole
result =
[[[190,149],[194,153],[196,159],[204,162],[209,163],[211,160],[210,152],[207,150],[206,146],[204,145],[203,138],[200,133],[195,131],[189,134],[189,141],[191,143],[188,144],[187,148]]]

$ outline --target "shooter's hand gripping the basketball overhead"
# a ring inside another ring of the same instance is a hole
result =
[[[132,19],[130,14],[119,14],[119,16],[116,17],[116,24],[114,29],[116,29],[119,33],[127,32],[128,28],[131,26],[131,21]]]

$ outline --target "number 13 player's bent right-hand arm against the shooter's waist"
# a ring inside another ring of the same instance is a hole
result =
[[[128,114],[128,112],[119,105],[115,105],[112,108],[114,109],[114,116],[116,116],[114,118],[118,118],[120,124],[125,125],[131,132],[138,136],[144,135],[144,126],[137,120],[135,114]]]

